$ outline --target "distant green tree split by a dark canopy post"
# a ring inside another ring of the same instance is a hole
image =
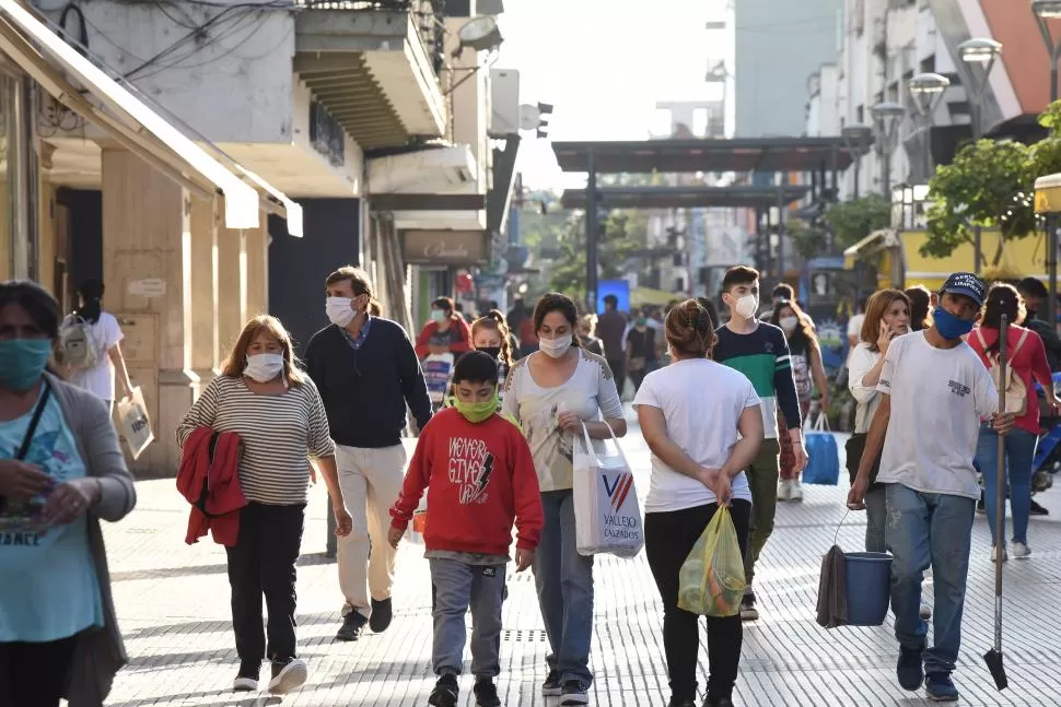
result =
[[[626,276],[630,254],[643,248],[646,220],[637,211],[613,211],[603,222],[604,232],[597,241],[597,263],[602,280]],[[556,292],[584,302],[586,294],[585,215],[571,219],[560,237],[560,258],[549,270],[549,285]]]

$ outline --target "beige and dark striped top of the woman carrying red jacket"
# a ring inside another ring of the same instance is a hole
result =
[[[234,432],[243,440],[240,483],[247,500],[275,506],[306,503],[310,457],[335,455],[328,416],[313,381],[279,394],[252,392],[243,378],[207,385],[177,426],[177,443],[197,427]]]

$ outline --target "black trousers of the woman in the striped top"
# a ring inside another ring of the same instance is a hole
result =
[[[294,658],[295,563],[302,547],[305,505],[252,503],[240,511],[240,537],[229,553],[232,627],[240,661],[260,664],[268,656]],[[261,597],[268,620],[268,649],[261,627]]]

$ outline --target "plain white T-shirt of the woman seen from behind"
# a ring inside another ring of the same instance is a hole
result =
[[[633,406],[658,408],[667,437],[698,464],[722,467],[737,444],[737,422],[747,408],[759,405],[751,381],[738,370],[706,358],[687,358],[645,376]],[[733,497],[751,500],[748,479],[733,478]],[[652,455],[652,479],[645,512],[667,512],[706,506],[714,493]]]

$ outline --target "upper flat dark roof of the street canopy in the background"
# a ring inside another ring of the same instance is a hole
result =
[[[553,142],[552,151],[563,172],[588,172],[592,153],[599,174],[843,170],[852,163],[840,137]]]

